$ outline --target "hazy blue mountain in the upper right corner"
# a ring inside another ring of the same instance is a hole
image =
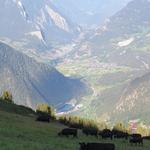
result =
[[[123,9],[109,18],[101,33],[110,34],[110,37],[123,37],[137,32],[150,26],[150,1],[133,0],[129,2]],[[104,30],[107,29],[107,30]],[[98,30],[99,31],[99,30]]]

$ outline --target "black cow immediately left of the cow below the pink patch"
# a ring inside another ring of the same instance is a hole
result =
[[[113,129],[112,134],[113,134],[114,138],[125,138],[126,140],[128,139],[128,133],[127,132]]]

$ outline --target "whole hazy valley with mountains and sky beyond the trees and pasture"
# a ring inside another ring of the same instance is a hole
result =
[[[35,109],[150,123],[150,1],[0,1],[0,92]]]

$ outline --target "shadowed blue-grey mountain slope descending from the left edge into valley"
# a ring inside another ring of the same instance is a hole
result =
[[[85,85],[0,43],[0,91],[3,90],[9,90],[17,104],[35,108],[37,103],[46,102],[57,107],[81,96]]]

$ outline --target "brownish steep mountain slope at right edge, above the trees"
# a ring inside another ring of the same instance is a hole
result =
[[[116,109],[113,111],[117,118],[143,119],[150,122],[150,73],[136,78],[124,90]]]

